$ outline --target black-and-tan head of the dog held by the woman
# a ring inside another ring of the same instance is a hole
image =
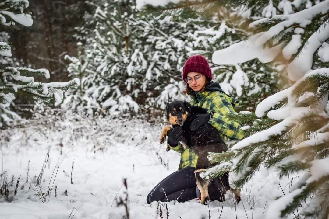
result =
[[[191,105],[187,101],[174,101],[167,104],[166,111],[170,124],[182,126],[191,115]]]

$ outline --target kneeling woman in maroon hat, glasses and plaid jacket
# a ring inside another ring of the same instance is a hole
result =
[[[221,90],[219,83],[211,81],[212,78],[209,63],[203,56],[194,55],[184,64],[182,79],[186,83],[186,89],[183,94],[191,95],[191,105],[202,107],[208,112],[198,115],[192,121],[190,129],[195,131],[208,123],[218,130],[224,142],[226,138],[242,139],[241,124],[225,118],[225,114],[234,112],[236,101]],[[180,145],[179,138],[182,134],[180,126],[167,132],[167,143],[171,149],[181,154],[181,161],[176,172],[164,178],[151,190],[146,198],[148,204],[153,201],[185,202],[199,197],[194,174],[197,154],[189,148],[184,150]],[[214,191],[214,188],[209,186],[210,198]]]

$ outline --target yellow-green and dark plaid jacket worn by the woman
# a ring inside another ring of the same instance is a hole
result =
[[[190,101],[192,106],[199,106],[211,114],[208,124],[213,125],[219,136],[225,142],[227,138],[238,140],[244,137],[240,129],[241,123],[225,118],[225,114],[234,112],[233,106],[237,103],[235,100],[220,91],[194,92],[193,99]],[[174,151],[181,153],[181,160],[178,169],[187,166],[196,167],[198,155],[189,148],[184,150],[182,145],[171,147]]]

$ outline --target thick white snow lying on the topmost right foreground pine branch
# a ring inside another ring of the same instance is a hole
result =
[[[283,44],[271,48],[263,48],[263,45],[273,36],[278,35],[285,28],[291,25],[299,24],[301,28],[310,24],[312,18],[316,14],[324,14],[329,10],[329,0],[322,1],[315,6],[298,11],[293,14],[275,15],[272,18],[282,20],[278,24],[272,26],[268,31],[257,33],[248,40],[235,43],[225,49],[215,51],[212,61],[218,65],[233,65],[243,63],[258,58],[262,63],[273,61],[274,58],[283,49]],[[249,27],[255,28],[265,22],[269,22],[269,18],[263,18],[252,22]],[[296,30],[296,34],[292,36],[291,42],[283,49],[283,55],[286,59],[291,58],[301,46],[299,33],[303,32],[301,28]],[[289,79],[297,81],[302,78],[311,68],[313,63],[313,54],[328,38],[329,26],[322,24],[319,29],[311,35],[307,40],[300,54],[288,65]]]

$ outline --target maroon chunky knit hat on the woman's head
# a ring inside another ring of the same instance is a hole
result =
[[[185,83],[186,81],[184,79],[190,72],[200,73],[206,76],[209,81],[213,79],[209,63],[202,55],[193,55],[185,62],[182,73],[182,79]]]

